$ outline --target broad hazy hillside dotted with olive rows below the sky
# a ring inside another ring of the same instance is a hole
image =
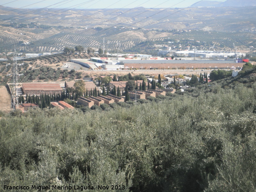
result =
[[[128,50],[143,41],[168,38],[249,47],[255,45],[255,17],[255,7],[102,11],[0,6],[0,51],[11,50],[13,44],[23,52],[62,52],[66,46],[77,45],[97,50],[103,48],[103,38],[105,48],[112,51],[117,43],[120,50]]]

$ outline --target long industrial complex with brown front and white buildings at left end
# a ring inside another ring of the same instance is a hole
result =
[[[198,53],[199,54],[199,53]],[[200,53],[201,54],[201,53]],[[202,53],[203,54],[203,53]],[[235,59],[206,59],[206,58],[91,58],[90,60],[72,59],[71,62],[90,68],[91,70],[125,70],[125,69],[241,69],[243,64]],[[241,60],[242,61],[242,60]]]

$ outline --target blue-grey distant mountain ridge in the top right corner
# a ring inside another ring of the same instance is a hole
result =
[[[243,7],[243,6],[256,6],[255,0],[226,0],[220,1],[201,1],[193,5],[193,7]]]

